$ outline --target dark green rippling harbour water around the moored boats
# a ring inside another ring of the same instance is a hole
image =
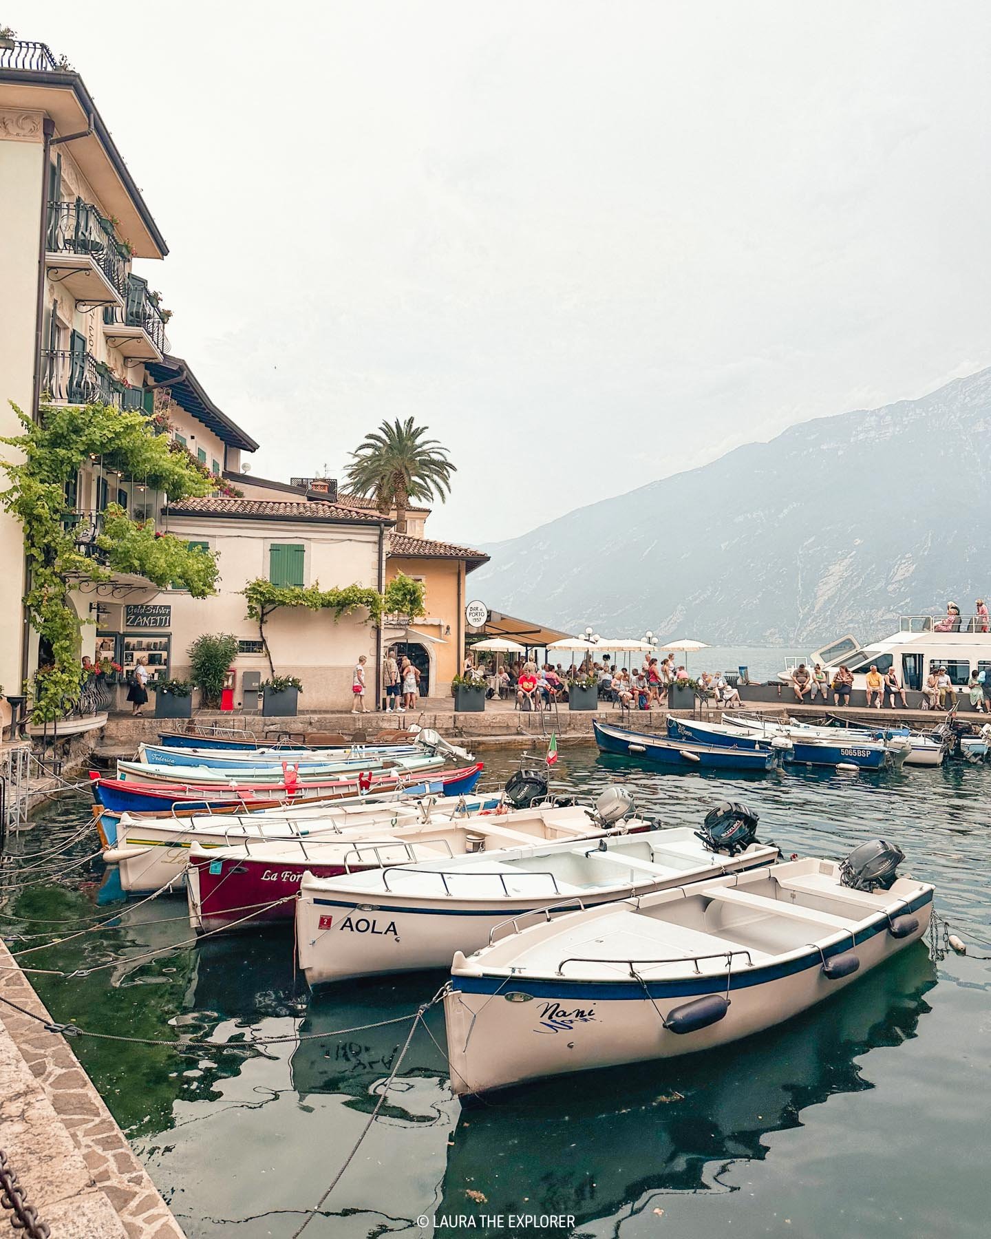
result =
[[[487,755],[499,779],[514,762]],[[727,779],[658,776],[581,747],[561,751],[555,777],[585,793],[622,777],[640,808],[670,825],[740,799],[785,852],[839,857],[887,835],[907,870],[936,883],[938,909],[972,952],[991,954],[976,942],[991,940],[989,767]],[[50,921],[82,918],[66,933],[113,911],[95,907],[97,860],[68,869],[98,846],[93,831],[81,834],[87,813],[82,799],[51,805],[11,845],[35,854],[4,869],[2,926],[15,952],[47,942],[27,935],[51,930]],[[63,845],[67,856],[43,855]],[[408,1025],[333,1031],[405,1015],[443,976],[311,997],[294,973],[291,932],[220,935],[139,958],[188,937],[185,900],[161,898],[21,961],[97,969],[35,978],[55,1016],[85,1028],[299,1037],[264,1056],[194,1058],[74,1042],[191,1237],[287,1239],[357,1140]],[[422,1214],[436,1235],[457,1227],[597,1239],[984,1237],[990,968],[974,955],[933,961],[919,943],[831,1002],[718,1054],[559,1078],[463,1111],[447,1088],[435,1009],[427,1028],[437,1044],[416,1032],[379,1119],[306,1235],[420,1235]],[[525,1213],[574,1215],[575,1224],[484,1220]]]

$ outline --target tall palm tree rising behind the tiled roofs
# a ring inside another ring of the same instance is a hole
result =
[[[396,533],[406,532],[410,499],[437,498],[451,493],[451,475],[457,466],[447,460],[447,449],[436,439],[424,439],[426,426],[405,421],[383,421],[375,434],[365,435],[351,453],[346,470],[352,494],[372,497],[379,512],[395,508]]]

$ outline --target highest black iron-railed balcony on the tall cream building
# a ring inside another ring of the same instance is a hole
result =
[[[77,304],[124,306],[128,260],[94,206],[82,198],[50,202],[45,252],[48,279],[68,289]]]

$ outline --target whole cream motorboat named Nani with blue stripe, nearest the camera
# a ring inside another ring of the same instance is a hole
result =
[[[877,840],[842,864],[795,860],[507,923],[455,954],[451,1087],[467,1098],[715,1051],[806,1011],[925,933],[933,887],[894,876],[902,859]],[[881,867],[883,885],[868,875]]]

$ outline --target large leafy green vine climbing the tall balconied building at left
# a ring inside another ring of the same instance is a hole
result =
[[[109,470],[140,477],[152,491],[171,499],[208,494],[211,484],[168,450],[165,435],[155,434],[142,413],[124,413],[110,405],[42,405],[37,421],[11,405],[22,432],[0,437],[16,450],[0,461],[10,486],[0,503],[24,527],[28,590],[25,606],[31,624],[51,649],[51,662],[40,669],[32,705],[36,722],[61,717],[79,694],[79,616],[69,601],[72,582],[107,581],[114,571],[140,572],[155,585],[183,585],[196,597],[214,592],[213,555],[185,541],[156,535],[151,522],[134,522],[123,508],[108,508],[95,544],[83,544],[67,512],[66,482],[90,460]],[[97,554],[92,554],[93,550]],[[87,553],[89,551],[89,554]]]

